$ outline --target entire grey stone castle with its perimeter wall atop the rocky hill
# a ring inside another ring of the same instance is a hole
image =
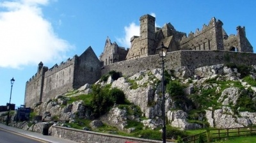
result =
[[[237,34],[228,36],[223,23],[212,18],[202,30],[196,29],[186,36],[170,23],[156,27],[155,20],[151,15],[140,17],[140,36],[132,36],[130,49],[119,47],[107,38],[99,59],[92,47],[88,47],[81,56],[76,55],[52,68],[39,63],[36,74],[26,82],[24,105],[31,107],[86,83],[93,84],[111,70],[132,75],[161,68],[156,55],[161,43],[168,47],[166,70],[186,66],[193,71],[200,66],[221,63],[256,64],[256,54],[246,38],[245,27],[238,26]]]

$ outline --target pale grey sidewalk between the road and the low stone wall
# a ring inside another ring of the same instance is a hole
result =
[[[40,140],[45,140],[47,142],[52,142],[52,143],[76,143],[72,140],[67,140],[67,139],[61,139],[58,137],[53,137],[51,135],[42,135],[42,133],[36,133],[36,132],[29,132],[27,130],[22,130],[19,128],[14,128],[12,126],[6,126],[5,124],[0,123],[0,128],[3,128],[4,130],[8,130],[11,132],[15,132],[15,133],[20,133],[22,135],[26,135],[28,137],[33,137],[36,139],[40,139]]]

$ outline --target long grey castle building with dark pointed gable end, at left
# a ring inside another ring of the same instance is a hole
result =
[[[93,84],[100,77],[101,63],[98,57],[88,47],[81,56],[67,59],[60,65],[55,64],[48,69],[41,62],[35,76],[26,82],[25,101],[26,107],[31,107],[38,102],[44,102],[58,94],[67,93],[84,84]]]

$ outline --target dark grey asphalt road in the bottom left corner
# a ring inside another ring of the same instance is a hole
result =
[[[1,143],[46,143],[44,140],[35,139],[19,133],[10,132],[0,128],[0,142]]]

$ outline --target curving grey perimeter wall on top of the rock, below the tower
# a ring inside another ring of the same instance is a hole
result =
[[[256,64],[256,54],[246,52],[230,52],[224,50],[179,50],[175,52],[168,52],[164,60],[164,67],[166,70],[179,68],[180,66],[188,66],[193,72],[195,68],[201,66],[236,63],[252,65]],[[122,72],[122,75],[134,75],[141,70],[152,70],[161,68],[158,55],[141,57],[138,59],[129,59],[118,63],[104,66],[101,70],[102,75],[111,70]]]

